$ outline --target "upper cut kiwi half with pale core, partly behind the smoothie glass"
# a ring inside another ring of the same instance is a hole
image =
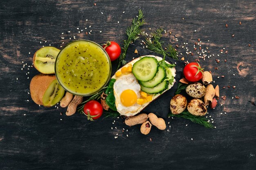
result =
[[[55,47],[43,47],[36,51],[33,64],[40,73],[54,74],[55,60],[60,50]]]

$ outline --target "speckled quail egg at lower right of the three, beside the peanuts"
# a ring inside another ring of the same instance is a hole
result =
[[[207,113],[207,108],[204,102],[198,98],[192,99],[187,106],[189,113],[195,116],[204,116]]]

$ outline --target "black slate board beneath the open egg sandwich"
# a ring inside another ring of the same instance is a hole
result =
[[[138,51],[137,54],[134,53],[135,49],[137,49],[137,51]],[[155,53],[153,51],[150,51],[148,49],[141,48],[139,46],[130,44],[130,46],[127,50],[127,53],[126,53],[126,61],[130,62],[133,59],[140,57],[140,56],[144,56],[144,55],[155,55],[155,56],[163,57],[162,55]],[[161,117],[161,118],[167,118],[168,113],[170,113],[170,101],[171,101],[171,98],[175,94],[178,82],[182,78],[182,71],[185,66],[184,62],[177,61],[170,57],[166,57],[166,61],[168,61],[169,63],[174,63],[174,64],[176,63],[176,66],[175,66],[176,82],[174,83],[174,85],[171,89],[169,89],[164,94],[159,96],[156,100],[154,100],[147,107],[145,107],[145,109],[143,109],[143,111],[141,111],[144,113],[151,113],[151,112],[155,113],[158,117]],[[115,64],[113,64],[113,65],[115,65]],[[115,72],[115,70],[116,70],[116,68],[112,68],[112,72]]]

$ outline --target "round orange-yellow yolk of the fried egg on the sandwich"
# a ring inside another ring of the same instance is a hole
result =
[[[121,103],[124,106],[126,107],[132,106],[137,102],[137,94],[133,90],[127,89],[121,93],[120,99],[121,99]]]

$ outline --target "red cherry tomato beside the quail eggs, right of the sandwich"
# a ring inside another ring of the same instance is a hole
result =
[[[203,71],[199,63],[192,62],[184,67],[183,74],[188,81],[197,82],[201,80]]]

